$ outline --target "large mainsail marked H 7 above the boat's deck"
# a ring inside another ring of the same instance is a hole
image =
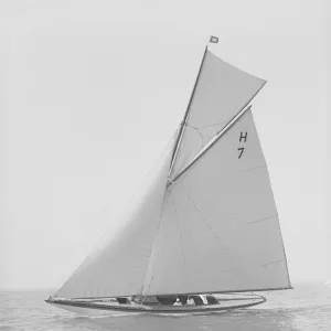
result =
[[[168,189],[150,264],[145,295],[290,287],[250,110]]]

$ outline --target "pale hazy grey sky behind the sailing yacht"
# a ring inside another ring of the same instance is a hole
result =
[[[330,12],[322,0],[1,1],[0,288],[60,287],[116,231],[211,34],[214,54],[268,81],[253,113],[291,280],[331,279]]]

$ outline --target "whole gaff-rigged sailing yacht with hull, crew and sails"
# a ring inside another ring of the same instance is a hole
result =
[[[253,292],[290,289],[252,115],[265,84],[207,44],[183,120],[148,190],[119,234],[45,301],[84,314],[204,313],[266,301]]]

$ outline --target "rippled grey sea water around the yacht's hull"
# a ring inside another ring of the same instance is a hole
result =
[[[331,331],[331,286],[298,285],[292,290],[263,293],[256,308],[183,316],[79,317],[43,300],[51,291],[1,291],[1,331]]]

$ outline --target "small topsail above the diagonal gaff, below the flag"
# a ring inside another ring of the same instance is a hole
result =
[[[266,81],[247,74],[206,50],[196,88],[186,110],[171,179],[238,114]]]

